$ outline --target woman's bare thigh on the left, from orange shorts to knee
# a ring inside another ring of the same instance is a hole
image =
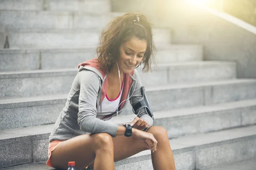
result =
[[[68,161],[75,161],[76,167],[87,167],[93,163],[96,150],[99,149],[100,141],[112,137],[107,133],[84,134],[68,139],[52,151],[50,161],[55,168],[68,168]]]

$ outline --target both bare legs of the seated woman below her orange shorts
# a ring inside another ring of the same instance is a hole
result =
[[[157,139],[157,151],[151,153],[154,170],[175,170],[172,149],[163,127],[148,129]],[[67,169],[68,161],[76,161],[76,167],[93,167],[94,170],[114,170],[114,161],[119,161],[147,150],[146,145],[133,136],[116,136],[107,133],[80,135],[61,143],[53,152],[51,162],[56,168]],[[95,159],[95,161],[94,161]]]

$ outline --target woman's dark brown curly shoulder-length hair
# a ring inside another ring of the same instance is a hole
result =
[[[142,60],[144,65],[143,72],[151,70],[151,62],[155,63],[155,46],[151,25],[145,15],[137,13],[127,13],[121,17],[115,17],[108,23],[102,31],[97,47],[98,60],[102,68],[111,72],[119,56],[119,46],[135,37],[147,42],[147,48]]]

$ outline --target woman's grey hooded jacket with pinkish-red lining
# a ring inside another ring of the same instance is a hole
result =
[[[128,93],[124,97],[125,99],[128,99],[134,91],[134,94],[129,100],[131,105],[135,105],[143,99],[141,94],[142,83],[138,77],[136,69],[134,69],[133,75],[126,74],[125,77],[127,77],[127,79],[131,79],[131,85],[130,87],[126,87]],[[80,66],[79,72],[71,86],[65,106],[55,122],[55,126],[49,136],[49,142],[54,140],[64,141],[75,136],[85,134],[86,132],[91,134],[108,133],[112,137],[116,137],[116,131],[119,125],[113,125],[105,122],[113,116],[116,116],[116,113],[107,119],[96,118],[97,107],[101,103],[102,94],[104,94],[103,92],[106,91],[103,87],[103,83],[106,79],[107,75],[102,74],[102,71],[100,71],[99,68],[96,68],[96,66]],[[122,101],[123,100],[121,99],[121,102]],[[120,106],[121,110],[119,113],[124,110],[127,102],[128,100],[123,102],[124,104]],[[145,108],[140,109],[138,117],[144,119],[150,125],[149,127],[153,125],[153,119],[146,113]],[[144,129],[144,131],[148,128]]]

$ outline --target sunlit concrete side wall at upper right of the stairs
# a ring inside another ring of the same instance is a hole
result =
[[[183,0],[112,0],[113,10],[144,12],[157,26],[172,28],[173,43],[204,45],[205,60],[235,60],[238,77],[256,78],[256,35]],[[177,3],[179,2],[179,3]],[[123,4],[121,4],[123,3]],[[148,5],[149,4],[149,5]],[[147,6],[149,6],[147,8]],[[154,10],[150,10],[155,7]]]

